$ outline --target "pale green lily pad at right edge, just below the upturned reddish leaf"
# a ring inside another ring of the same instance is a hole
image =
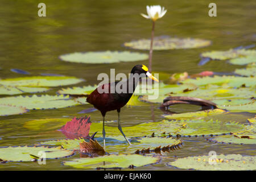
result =
[[[228,84],[232,87],[255,86],[256,80],[254,77],[235,77],[235,76],[214,76],[214,77],[203,77],[196,79],[187,79],[183,81],[184,84],[195,84],[197,86],[208,85],[208,84]]]

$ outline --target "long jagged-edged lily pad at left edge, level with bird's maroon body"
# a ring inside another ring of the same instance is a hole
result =
[[[77,105],[77,102],[69,99],[69,96],[18,96],[0,98],[0,104],[23,106],[27,109],[55,109]]]

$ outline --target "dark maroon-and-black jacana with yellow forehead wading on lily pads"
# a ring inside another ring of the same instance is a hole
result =
[[[145,65],[135,65],[133,69],[131,69],[131,74],[128,80],[110,82],[108,84],[100,85],[86,98],[87,102],[89,102],[96,109],[101,111],[103,117],[102,135],[104,140],[104,148],[106,134],[104,122],[106,112],[111,110],[117,110],[118,129],[122,133],[123,137],[125,137],[125,134],[122,131],[120,123],[120,110],[121,107],[127,104],[131,96],[133,96],[134,90],[142,77],[149,77],[152,80],[159,82],[157,78],[155,78],[154,76],[152,76],[150,72],[148,72],[148,68]],[[127,143],[131,145],[131,143],[129,142],[129,140],[127,140],[126,137],[125,139]]]

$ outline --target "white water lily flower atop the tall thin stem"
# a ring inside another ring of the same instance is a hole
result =
[[[167,10],[164,10],[164,7],[160,5],[147,6],[147,15],[141,14],[144,18],[152,19],[153,21],[162,18],[166,14]]]

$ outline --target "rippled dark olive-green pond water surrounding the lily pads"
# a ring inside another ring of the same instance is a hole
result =
[[[215,1],[217,17],[208,16],[211,1],[44,1],[47,17],[37,15],[39,1],[0,2],[0,77],[19,77],[10,69],[18,68],[31,73],[55,73],[84,78],[86,82],[78,84],[97,84],[99,73],[129,73],[136,63],[148,64],[148,61],[116,64],[78,64],[59,60],[65,53],[127,50],[124,42],[141,38],[150,38],[151,23],[140,13],[146,13],[146,5],[160,4],[166,7],[167,14],[156,22],[155,35],[170,35],[212,40],[212,45],[199,49],[180,49],[154,51],[152,70],[155,72],[188,72],[189,75],[201,71],[233,72],[241,66],[230,65],[225,61],[210,61],[199,66],[200,53],[209,50],[225,50],[238,46],[255,44],[255,1]],[[147,51],[139,51],[145,52]],[[52,89],[47,94],[55,94],[60,88]],[[60,133],[42,134],[23,127],[26,121],[40,118],[60,118],[81,116],[77,114],[90,105],[80,105],[55,110],[32,110],[22,115],[0,117],[0,146],[34,144],[42,140],[61,139]],[[185,112],[193,110],[191,106],[174,106],[174,110]],[[195,110],[198,109],[195,107]],[[122,126],[132,126],[142,122],[160,121],[162,111],[158,105],[142,107],[123,107],[121,111]],[[92,121],[101,121],[99,111],[90,113]],[[253,113],[227,114],[224,121],[246,123]],[[117,120],[115,111],[106,115],[108,120]],[[107,133],[108,134],[108,133]],[[136,168],[137,170],[171,170],[167,166],[177,157],[208,155],[214,150],[217,154],[255,155],[254,148],[248,145],[216,144],[205,138],[181,138],[184,140],[181,150],[166,154],[160,163]],[[74,155],[71,158],[77,158]],[[6,163],[0,169],[55,169],[69,170],[61,164],[64,160],[47,160],[46,165],[37,163]]]

